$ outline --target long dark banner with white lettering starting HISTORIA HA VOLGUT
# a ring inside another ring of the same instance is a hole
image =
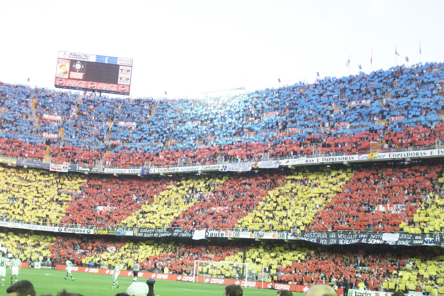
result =
[[[424,243],[424,234],[408,233],[351,233],[301,232],[289,234],[289,240],[311,241],[321,245],[387,244],[418,246]]]

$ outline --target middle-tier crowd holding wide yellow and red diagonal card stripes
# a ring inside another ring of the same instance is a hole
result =
[[[182,229],[441,232],[440,165],[110,178],[0,167],[0,217]]]

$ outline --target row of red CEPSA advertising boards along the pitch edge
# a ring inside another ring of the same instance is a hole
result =
[[[62,264],[57,264],[56,266],[57,270],[65,270],[65,268],[66,268],[65,265]],[[71,271],[83,272],[83,273],[95,273],[95,274],[108,274],[108,275],[112,275],[114,272],[113,269],[109,268],[91,268],[91,267],[75,266],[75,265],[71,267]],[[133,272],[132,270],[121,270],[119,276],[132,277]],[[238,284],[241,285],[242,287],[249,287],[249,288],[289,290],[292,292],[302,292],[302,293],[306,293],[311,288],[311,286],[304,286],[304,285],[268,283],[268,282],[245,281],[245,280],[235,280],[233,282],[232,279],[224,279],[217,277],[199,276],[197,278],[197,276],[194,277],[194,276],[187,276],[180,274],[154,273],[154,272],[145,272],[145,271],[139,271],[138,277],[146,279],[155,279],[155,280],[178,280],[183,282],[199,282],[199,283],[221,284],[221,285]],[[343,293],[343,290],[338,289],[336,293],[337,295],[341,295]]]

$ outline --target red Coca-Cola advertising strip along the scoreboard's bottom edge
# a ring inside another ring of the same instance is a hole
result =
[[[83,81],[76,79],[56,78],[54,85],[72,89],[97,90],[102,92],[117,93],[128,95],[130,93],[129,85],[119,85],[114,83],[97,83],[94,81]]]

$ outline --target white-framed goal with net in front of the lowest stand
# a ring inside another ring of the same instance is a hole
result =
[[[256,287],[258,280],[256,268],[251,268],[247,263],[196,260],[193,273],[194,281],[207,284]]]

